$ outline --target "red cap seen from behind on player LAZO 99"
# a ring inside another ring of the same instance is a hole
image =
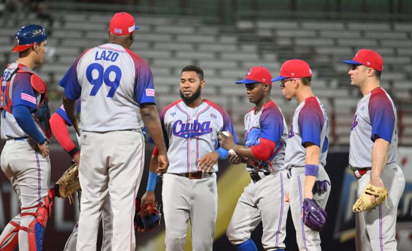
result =
[[[117,36],[125,36],[139,30],[135,25],[135,19],[127,12],[119,12],[113,16],[109,25],[109,32]]]

